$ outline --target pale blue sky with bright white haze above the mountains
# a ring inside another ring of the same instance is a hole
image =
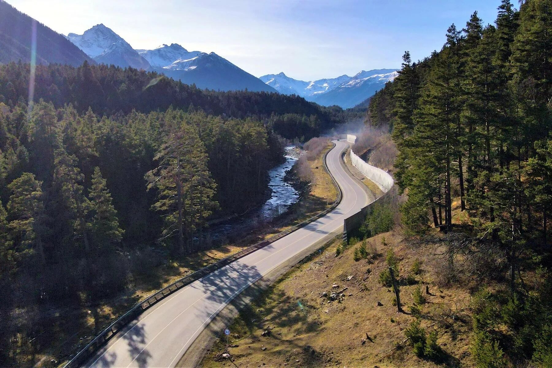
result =
[[[7,0],[59,33],[103,23],[135,49],[176,42],[214,51],[254,76],[296,79],[399,68],[440,49],[450,24],[477,10],[493,23],[500,0]],[[517,5],[516,1],[513,1]]]

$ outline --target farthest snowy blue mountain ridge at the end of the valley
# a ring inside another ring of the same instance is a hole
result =
[[[396,69],[374,69],[361,71],[354,77],[344,74],[337,78],[317,79],[311,82],[290,78],[283,72],[267,74],[259,79],[280,93],[297,94],[320,105],[339,105],[347,109],[370,98],[397,75]]]

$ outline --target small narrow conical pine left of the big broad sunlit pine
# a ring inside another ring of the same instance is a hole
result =
[[[89,199],[93,216],[91,234],[94,246],[99,250],[110,250],[121,241],[124,230],[119,227],[117,211],[113,207],[107,181],[102,177],[99,167],[94,168]]]

